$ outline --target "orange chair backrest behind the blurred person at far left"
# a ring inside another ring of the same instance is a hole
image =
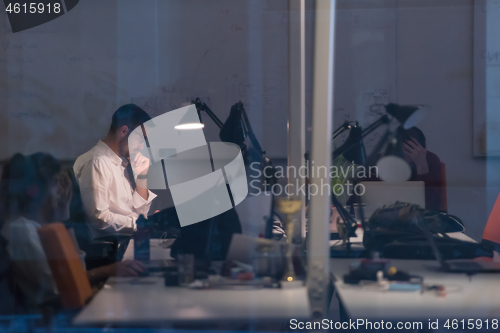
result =
[[[92,296],[92,288],[66,227],[62,223],[47,224],[38,229],[38,235],[62,305],[83,307]]]

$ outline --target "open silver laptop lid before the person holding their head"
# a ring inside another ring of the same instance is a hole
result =
[[[396,201],[407,202],[425,208],[425,183],[419,182],[362,182],[365,193],[361,196],[365,204],[365,218],[384,206]]]

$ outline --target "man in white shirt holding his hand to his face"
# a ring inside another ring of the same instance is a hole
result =
[[[93,238],[130,236],[139,215],[148,214],[156,197],[146,186],[149,160],[138,152],[133,152],[131,160],[128,140],[136,127],[150,119],[137,105],[120,107],[113,114],[107,136],[75,162],[73,169]],[[137,138],[131,139],[144,140],[132,135]],[[137,183],[132,168],[140,170]]]

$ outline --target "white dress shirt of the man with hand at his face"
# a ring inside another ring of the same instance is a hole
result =
[[[148,191],[145,200],[134,190],[128,164],[101,140],[75,162],[73,169],[93,238],[131,235],[139,215],[147,217],[156,194]]]

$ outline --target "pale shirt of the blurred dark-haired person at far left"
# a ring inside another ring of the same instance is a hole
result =
[[[19,217],[6,222],[2,235],[14,267],[16,284],[28,304],[41,304],[58,297],[57,287],[43,251],[38,229],[40,223]]]

